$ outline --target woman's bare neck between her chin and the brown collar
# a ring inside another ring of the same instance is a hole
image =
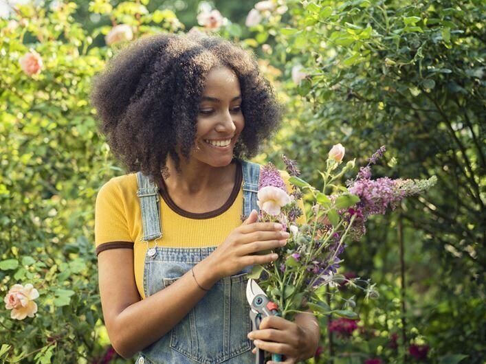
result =
[[[193,159],[186,161],[181,158],[178,172],[175,162],[168,157],[166,166],[169,177],[164,179],[164,182],[169,191],[177,188],[186,194],[198,194],[234,180],[235,163],[223,167],[213,167]]]

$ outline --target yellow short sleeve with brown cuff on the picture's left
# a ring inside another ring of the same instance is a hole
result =
[[[105,183],[96,196],[95,244],[96,255],[105,249],[131,248],[124,200],[120,187],[113,181]]]

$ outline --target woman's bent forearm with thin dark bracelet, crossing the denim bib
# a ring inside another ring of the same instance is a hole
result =
[[[194,267],[197,282],[209,289],[217,279],[208,260]],[[124,308],[111,320],[109,336],[118,354],[130,358],[179,323],[204,297],[191,271],[162,291]]]

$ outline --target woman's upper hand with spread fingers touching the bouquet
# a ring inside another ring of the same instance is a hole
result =
[[[282,231],[279,223],[257,223],[257,220],[258,213],[252,210],[243,224],[236,227],[223,244],[210,254],[208,258],[211,265],[216,267],[214,275],[217,280],[234,275],[245,266],[266,264],[278,258],[274,253],[256,253],[283,247],[287,244],[289,233]]]

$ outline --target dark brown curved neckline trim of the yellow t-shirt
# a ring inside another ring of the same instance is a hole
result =
[[[230,194],[230,197],[228,197],[228,200],[219,208],[214,209],[210,212],[188,212],[185,209],[181,209],[181,207],[177,206],[172,198],[170,198],[168,192],[167,192],[167,186],[166,183],[164,182],[164,179],[160,179],[160,188],[159,192],[162,198],[164,199],[165,203],[170,207],[170,209],[173,210],[173,212],[184,216],[186,218],[193,218],[195,220],[201,220],[204,218],[214,218],[216,216],[219,216],[223,214],[223,212],[227,211],[234,203],[234,200],[236,200],[236,196],[238,196],[238,193],[241,189],[241,182],[243,181],[243,171],[241,170],[241,162],[238,159],[235,159],[236,161],[236,176],[235,176],[235,181],[234,181],[234,186],[233,190]]]

